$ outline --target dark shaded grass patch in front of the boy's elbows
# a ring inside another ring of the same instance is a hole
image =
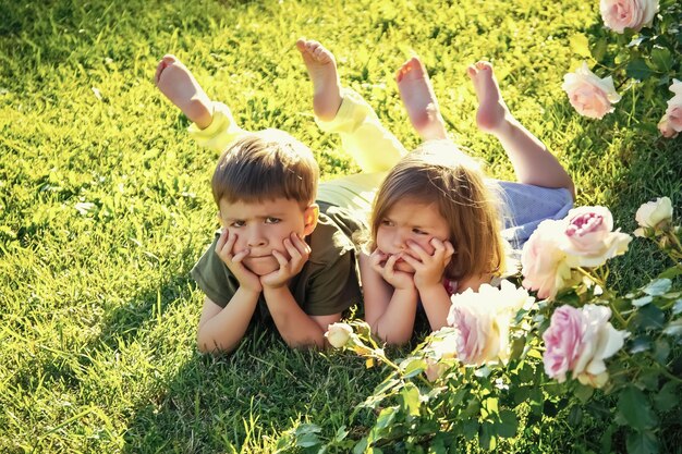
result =
[[[136,409],[123,452],[272,452],[301,422],[331,437],[382,376],[349,354],[291,349],[271,323],[252,322],[233,354],[192,354],[158,400]]]

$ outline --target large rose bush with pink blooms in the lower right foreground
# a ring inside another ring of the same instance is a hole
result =
[[[400,445],[401,452],[456,453],[467,442],[495,450],[546,416],[579,425],[582,415],[604,429],[588,441],[590,451],[619,450],[616,442],[629,453],[659,452],[661,438],[682,430],[682,229],[670,206],[665,197],[643,204],[637,222],[672,267],[625,294],[609,289],[604,275],[631,237],[613,230],[606,208],[584,207],[540,225],[524,247],[524,270],[535,274],[524,274],[523,284],[539,300],[509,281],[454,295],[450,327],[399,360],[365,322],[331,326],[328,339],[348,334],[343,349],[387,370],[349,420],[363,413],[374,424],[361,432],[342,427],[329,438],[306,425],[284,437],[279,452],[380,453]]]

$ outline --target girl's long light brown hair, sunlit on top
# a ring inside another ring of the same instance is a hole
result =
[[[454,246],[446,277],[462,282],[500,274],[504,269],[504,243],[496,193],[486,184],[480,165],[452,142],[428,142],[404,156],[379,187],[369,246],[376,248],[381,220],[395,204],[406,199],[433,203],[448,222],[448,240]]]

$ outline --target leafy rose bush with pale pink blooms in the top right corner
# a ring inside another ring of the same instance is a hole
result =
[[[571,40],[573,51],[586,59],[564,76],[571,105],[581,115],[601,119],[616,110],[617,91],[637,90],[646,106],[638,119],[644,130],[677,137],[682,131],[682,83],[673,77],[682,72],[682,3],[601,0],[599,12],[604,27],[593,27],[587,39]],[[669,91],[674,96],[666,105]],[[632,114],[632,106],[623,106],[623,111]]]

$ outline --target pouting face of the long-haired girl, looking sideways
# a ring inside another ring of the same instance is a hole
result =
[[[379,250],[389,256],[403,253],[418,259],[418,256],[410,249],[410,245],[413,247],[416,245],[431,255],[434,254],[431,240],[444,242],[450,240],[449,236],[448,221],[440,216],[435,203],[425,204],[406,199],[394,204],[386,217],[379,220],[376,244]],[[399,271],[414,272],[414,268],[403,260],[399,260],[395,268]]]

